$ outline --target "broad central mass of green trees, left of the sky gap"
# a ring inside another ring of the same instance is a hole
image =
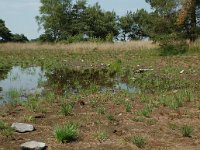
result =
[[[37,22],[45,33],[40,38],[47,41],[66,40],[84,35],[106,39],[118,35],[115,12],[103,11],[98,3],[86,6],[86,0],[41,0]]]

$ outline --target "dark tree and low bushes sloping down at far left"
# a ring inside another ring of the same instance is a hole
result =
[[[12,34],[6,27],[5,22],[0,19],[0,42],[27,42],[28,38],[23,34]]]

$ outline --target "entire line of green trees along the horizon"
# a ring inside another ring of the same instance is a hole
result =
[[[40,0],[40,15],[36,16],[44,33],[43,42],[79,42],[87,40],[113,41],[149,38],[165,45],[176,41],[195,41],[200,32],[200,0],[145,0],[151,11],[129,11],[117,16],[87,0]],[[11,40],[3,20],[0,39]],[[9,38],[8,38],[9,37]]]

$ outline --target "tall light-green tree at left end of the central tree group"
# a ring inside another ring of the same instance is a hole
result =
[[[40,2],[41,15],[36,16],[40,27],[43,27],[47,37],[50,36],[54,41],[65,39],[71,28],[72,1],[40,0]]]

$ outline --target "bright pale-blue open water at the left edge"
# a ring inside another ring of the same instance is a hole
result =
[[[41,67],[12,67],[0,70],[0,104],[13,99],[24,100],[28,95],[43,91],[39,84],[46,81],[45,72]]]

